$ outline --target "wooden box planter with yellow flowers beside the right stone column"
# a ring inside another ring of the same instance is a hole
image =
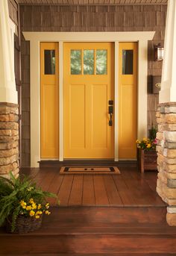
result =
[[[143,138],[136,140],[137,148],[139,149],[138,161],[141,172],[145,169],[157,169],[157,140],[151,138]]]

